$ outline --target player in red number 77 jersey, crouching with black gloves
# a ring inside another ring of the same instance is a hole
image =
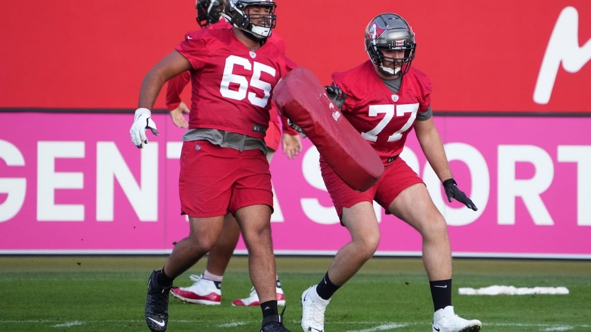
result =
[[[372,202],[394,214],[423,237],[423,263],[433,299],[433,332],[479,331],[478,320],[465,320],[452,306],[452,253],[447,224],[431,201],[421,178],[400,158],[414,128],[427,161],[443,183],[448,200],[475,204],[459,190],[433,121],[431,83],[411,66],[417,43],[408,22],[385,13],[371,19],[365,30],[369,60],[343,73],[333,73],[326,92],[384,163],[384,174],[367,191],[350,188],[320,158],[322,177],[351,241],[337,253],[317,285],[301,296],[304,331],[324,331],[324,312],[342,287],[378,248],[380,232]]]

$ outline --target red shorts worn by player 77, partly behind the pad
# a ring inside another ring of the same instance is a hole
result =
[[[388,213],[388,206],[402,190],[413,184],[423,183],[417,173],[408,167],[400,157],[386,165],[384,174],[378,179],[378,182],[362,193],[353,190],[343,182],[324,160],[320,161],[320,170],[339,218],[343,213],[343,207],[352,207],[362,201],[372,202],[375,200]]]

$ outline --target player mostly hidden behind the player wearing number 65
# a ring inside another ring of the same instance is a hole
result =
[[[223,9],[227,5],[226,0],[197,0],[197,22],[200,27],[207,29],[228,28],[231,24],[223,18]],[[273,32],[267,38],[266,43],[275,43],[280,50],[285,50],[283,40]],[[168,81],[166,104],[170,110],[170,116],[175,125],[179,128],[187,128],[187,123],[183,112],[189,113],[189,108],[181,101],[180,94],[184,87],[189,83],[190,71],[184,71],[180,75],[173,77]],[[265,135],[265,144],[267,145],[267,160],[271,162],[272,155],[277,151],[282,141],[282,148],[288,158],[295,158],[301,151],[302,144],[300,135],[290,126],[283,125],[283,135],[281,135],[280,121],[277,109],[271,105],[269,110],[270,120]],[[219,305],[222,303],[222,279],[223,274],[228,267],[230,258],[238,244],[240,227],[232,214],[226,214],[222,230],[223,236],[217,239],[215,246],[207,255],[207,266],[203,274],[190,275],[193,284],[189,287],[174,287],[171,289],[171,295],[178,300],[196,304]],[[279,278],[276,281],[276,293],[278,305],[285,305],[285,295],[281,288]],[[260,305],[258,295],[254,287],[246,298],[238,298],[232,301],[232,305]]]

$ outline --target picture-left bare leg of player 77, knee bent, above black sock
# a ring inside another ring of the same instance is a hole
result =
[[[330,281],[339,286],[361,269],[379,244],[378,220],[372,203],[361,202],[343,209],[342,221],[349,229],[351,241],[339,249],[328,271]]]

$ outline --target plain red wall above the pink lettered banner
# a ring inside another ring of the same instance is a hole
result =
[[[591,113],[591,1],[277,2],[276,32],[288,56],[321,82],[365,61],[365,25],[394,11],[417,33],[413,65],[433,81],[435,110]],[[194,0],[2,1],[0,108],[135,109],[145,73],[185,31],[198,28],[193,6]],[[554,52],[570,57],[561,63],[568,71],[558,66],[549,102],[536,103],[548,41],[567,6],[578,22],[570,15],[558,29]],[[164,108],[162,97],[157,107]]]

